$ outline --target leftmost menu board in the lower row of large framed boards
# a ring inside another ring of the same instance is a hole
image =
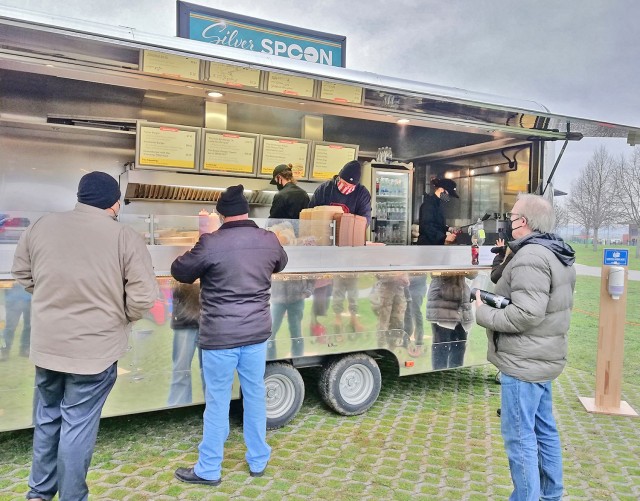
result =
[[[200,129],[183,125],[138,122],[136,166],[198,170]]]

